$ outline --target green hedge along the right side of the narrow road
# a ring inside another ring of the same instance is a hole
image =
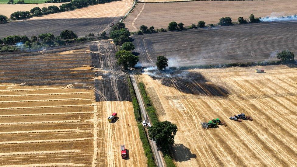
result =
[[[145,103],[145,110],[149,115],[149,118],[152,121],[152,125],[154,123],[159,122],[156,109],[150,99],[150,97],[147,95],[145,91],[145,85],[142,82],[138,83],[138,88],[140,89],[140,93],[142,95],[143,101]],[[170,155],[169,149],[168,150],[162,150],[164,161],[166,163],[167,167],[175,167],[175,164],[173,163],[173,158]]]

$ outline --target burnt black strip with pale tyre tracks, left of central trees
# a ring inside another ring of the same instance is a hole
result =
[[[109,41],[90,45],[92,67],[95,70],[96,101],[131,101],[127,77],[118,66],[116,49]]]

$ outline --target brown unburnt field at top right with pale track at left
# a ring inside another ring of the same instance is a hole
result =
[[[256,17],[288,16],[296,14],[297,1],[193,1],[173,3],[138,3],[132,13],[124,20],[130,31],[137,31],[141,25],[167,28],[171,21],[182,22],[184,26],[197,24],[216,24],[221,17],[247,19],[251,13]]]

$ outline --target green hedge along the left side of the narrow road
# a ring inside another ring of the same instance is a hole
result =
[[[155,161],[154,161],[154,155],[152,152],[152,148],[149,144],[149,140],[148,137],[146,135],[145,129],[143,127],[142,123],[142,118],[141,118],[141,112],[140,112],[140,107],[135,95],[135,91],[133,89],[133,85],[131,82],[131,79],[129,77],[129,75],[127,75],[127,80],[128,80],[128,86],[129,86],[129,91],[130,91],[130,95],[131,95],[131,99],[132,99],[132,104],[133,104],[133,109],[134,109],[134,115],[135,115],[135,119],[138,123],[138,130],[139,130],[139,136],[140,136],[140,140],[142,141],[142,147],[144,149],[144,153],[146,158],[148,159],[147,161],[147,165],[149,167],[155,167]]]

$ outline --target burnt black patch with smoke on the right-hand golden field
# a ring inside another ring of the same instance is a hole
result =
[[[227,90],[208,82],[201,73],[182,70],[155,71],[151,77],[160,80],[162,85],[173,87],[184,93],[204,96],[229,95]]]

